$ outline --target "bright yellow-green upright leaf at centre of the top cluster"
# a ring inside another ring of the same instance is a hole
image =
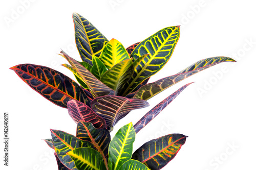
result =
[[[117,63],[125,59],[130,59],[130,56],[123,45],[113,38],[108,43],[106,43],[101,55],[99,56],[99,59],[104,63],[106,67],[111,69]]]

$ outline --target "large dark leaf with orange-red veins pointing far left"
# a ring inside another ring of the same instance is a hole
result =
[[[67,108],[68,101],[72,99],[90,106],[83,89],[57,70],[34,64],[20,64],[10,69],[36,92],[60,107]]]

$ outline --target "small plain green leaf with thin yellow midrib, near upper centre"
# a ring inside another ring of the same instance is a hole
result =
[[[97,79],[100,80],[102,78],[102,75],[108,70],[109,69],[102,63],[102,61],[98,57],[93,56],[93,67],[91,73]]]

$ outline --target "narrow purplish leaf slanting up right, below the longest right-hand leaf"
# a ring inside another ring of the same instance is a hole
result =
[[[175,91],[173,94],[169,95],[166,99],[164,99],[162,102],[157,104],[154,108],[152,108],[150,111],[148,111],[135,125],[134,129],[135,132],[138,133],[142,128],[144,128],[148,123],[151,122],[170,102],[172,102],[180,93],[183,91],[189,84],[188,83],[181,88],[179,88],[177,91]]]

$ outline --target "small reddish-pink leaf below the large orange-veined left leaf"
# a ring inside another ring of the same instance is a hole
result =
[[[71,100],[68,102],[68,112],[75,123],[90,122],[95,128],[106,128],[105,120],[98,116],[89,106],[76,101]]]

